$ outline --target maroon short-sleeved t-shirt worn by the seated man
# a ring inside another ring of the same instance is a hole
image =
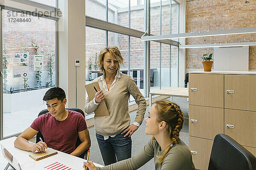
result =
[[[36,118],[30,127],[41,131],[48,147],[68,154],[76,149],[78,132],[87,129],[84,116],[70,110],[64,121],[56,120],[48,112]]]

